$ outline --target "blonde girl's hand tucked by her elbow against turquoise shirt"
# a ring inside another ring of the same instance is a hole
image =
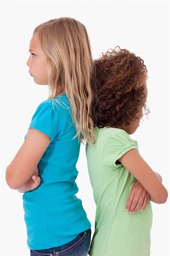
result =
[[[20,193],[24,193],[27,191],[34,190],[35,188],[39,187],[40,182],[41,182],[41,178],[39,177],[39,170],[37,166],[32,176],[30,177],[30,179],[28,179],[27,182],[18,189],[18,191]]]

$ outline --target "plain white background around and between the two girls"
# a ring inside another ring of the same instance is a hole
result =
[[[107,48],[118,45],[144,59],[149,76],[148,105],[152,113],[132,138],[138,140],[140,154],[154,171],[159,172],[163,177],[163,184],[169,189],[169,3],[1,1],[1,10],[1,255],[28,256],[30,252],[26,244],[22,195],[7,187],[5,169],[23,143],[32,114],[40,102],[48,97],[47,86],[35,85],[32,77],[28,75],[26,66],[29,42],[34,28],[49,19],[69,16],[85,25],[94,59]],[[82,199],[93,231],[95,205],[84,146],[81,147],[77,168],[77,184],[80,189],[78,197]],[[151,256],[168,256],[168,201],[163,205],[152,203],[152,208],[154,219]]]

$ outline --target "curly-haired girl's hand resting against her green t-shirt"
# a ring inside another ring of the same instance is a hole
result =
[[[139,183],[138,180],[134,183],[126,203],[126,210],[129,213],[135,213],[140,209],[141,212],[146,208],[150,195]]]

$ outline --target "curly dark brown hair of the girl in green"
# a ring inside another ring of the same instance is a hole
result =
[[[139,118],[146,101],[147,68],[134,53],[115,47],[94,61],[96,81],[92,84],[92,115],[95,126],[121,127]]]

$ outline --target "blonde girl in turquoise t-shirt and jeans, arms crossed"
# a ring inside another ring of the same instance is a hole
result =
[[[49,85],[49,98],[36,109],[6,181],[25,192],[32,256],[85,256],[90,222],[75,195],[75,180],[80,141],[93,138],[93,60],[86,28],[72,18],[49,20],[35,28],[29,51],[29,73],[36,84]]]

